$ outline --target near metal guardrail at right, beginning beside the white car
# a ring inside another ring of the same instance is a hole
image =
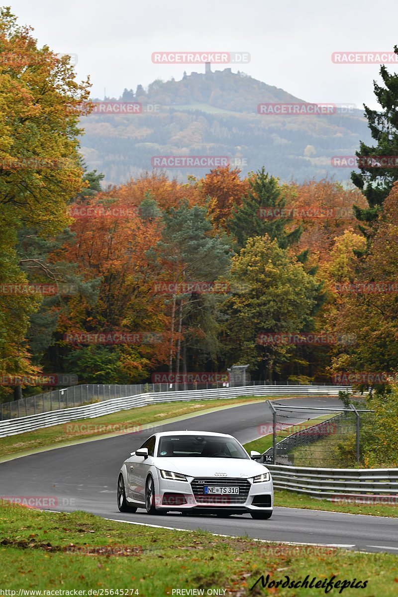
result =
[[[329,501],[398,504],[398,469],[318,469],[265,464],[274,487]]]

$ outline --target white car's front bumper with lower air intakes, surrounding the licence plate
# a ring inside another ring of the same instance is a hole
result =
[[[273,484],[270,481],[253,483],[246,478],[193,478],[169,481],[158,478],[156,508],[167,510],[233,510],[245,512],[273,509]],[[239,487],[239,494],[205,494],[205,487]]]

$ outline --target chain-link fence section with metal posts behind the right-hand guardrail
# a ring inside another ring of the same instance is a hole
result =
[[[361,418],[368,418],[372,411],[353,405],[323,408],[269,404],[273,445],[264,453],[264,463],[319,468],[360,463]]]

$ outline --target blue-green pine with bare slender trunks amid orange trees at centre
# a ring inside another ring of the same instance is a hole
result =
[[[227,239],[215,235],[206,217],[206,208],[184,202],[163,214],[165,227],[158,245],[159,259],[165,265],[170,281],[214,282],[227,273],[230,247]],[[191,362],[205,364],[206,358],[215,357],[217,329],[214,312],[221,296],[206,293],[179,292],[171,298],[171,328],[169,371],[172,370],[175,347],[176,371],[180,370],[180,355],[186,368],[186,349]],[[182,340],[182,346],[181,346]]]

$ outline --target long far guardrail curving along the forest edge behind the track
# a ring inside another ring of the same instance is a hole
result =
[[[228,399],[237,396],[283,396],[283,395],[326,395],[338,396],[340,390],[349,390],[347,386],[241,386],[223,387],[212,390],[189,390],[187,392],[147,392],[126,398],[113,398],[103,402],[95,402],[75,408],[48,411],[27,417],[18,417],[0,421],[0,438],[17,435],[26,431],[51,427],[61,423],[69,423],[81,418],[101,417],[104,414],[116,413],[129,408],[143,407],[161,402],[209,399]]]

